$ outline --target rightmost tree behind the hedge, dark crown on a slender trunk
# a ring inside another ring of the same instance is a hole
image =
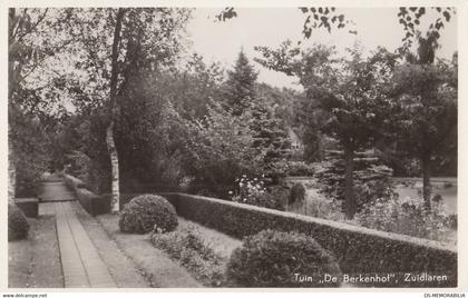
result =
[[[393,90],[397,139],[420,160],[422,197],[428,209],[432,159],[457,130],[457,62],[435,63],[436,33],[419,37],[418,53],[408,53],[407,62],[397,68]]]

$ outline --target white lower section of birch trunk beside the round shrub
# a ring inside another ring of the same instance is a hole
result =
[[[114,121],[107,127],[106,130],[106,143],[107,150],[110,156],[110,167],[111,167],[111,201],[110,201],[110,211],[113,213],[118,213],[120,210],[120,187],[119,187],[119,171],[118,171],[118,153],[116,143],[114,141]]]

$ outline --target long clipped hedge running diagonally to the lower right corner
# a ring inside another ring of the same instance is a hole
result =
[[[396,274],[399,282],[364,282],[374,287],[456,287],[457,251],[436,241],[383,232],[256,206],[185,193],[160,193],[177,213],[242,239],[265,229],[312,236],[337,256],[343,274]],[[402,282],[404,274],[440,275],[446,280]]]

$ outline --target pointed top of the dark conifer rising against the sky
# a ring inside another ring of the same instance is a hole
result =
[[[240,116],[255,98],[255,83],[259,73],[250,63],[244,51],[241,50],[234,69],[227,71],[226,93],[227,106],[234,116]]]

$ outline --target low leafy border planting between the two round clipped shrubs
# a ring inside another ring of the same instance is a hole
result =
[[[152,242],[187,268],[204,286],[223,286],[225,261],[192,228],[186,231],[155,232]]]

